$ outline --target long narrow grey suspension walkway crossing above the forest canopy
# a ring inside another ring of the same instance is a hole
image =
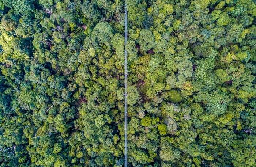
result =
[[[124,167],[127,167],[127,1],[124,5]]]

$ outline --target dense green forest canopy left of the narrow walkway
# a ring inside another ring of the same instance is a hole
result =
[[[0,1],[1,166],[122,166],[118,3]]]

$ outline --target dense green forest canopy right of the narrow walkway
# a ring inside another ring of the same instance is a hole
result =
[[[128,81],[140,95],[128,106],[129,165],[255,166],[252,143],[244,153],[231,146],[255,134],[254,8],[252,0],[128,1]]]

